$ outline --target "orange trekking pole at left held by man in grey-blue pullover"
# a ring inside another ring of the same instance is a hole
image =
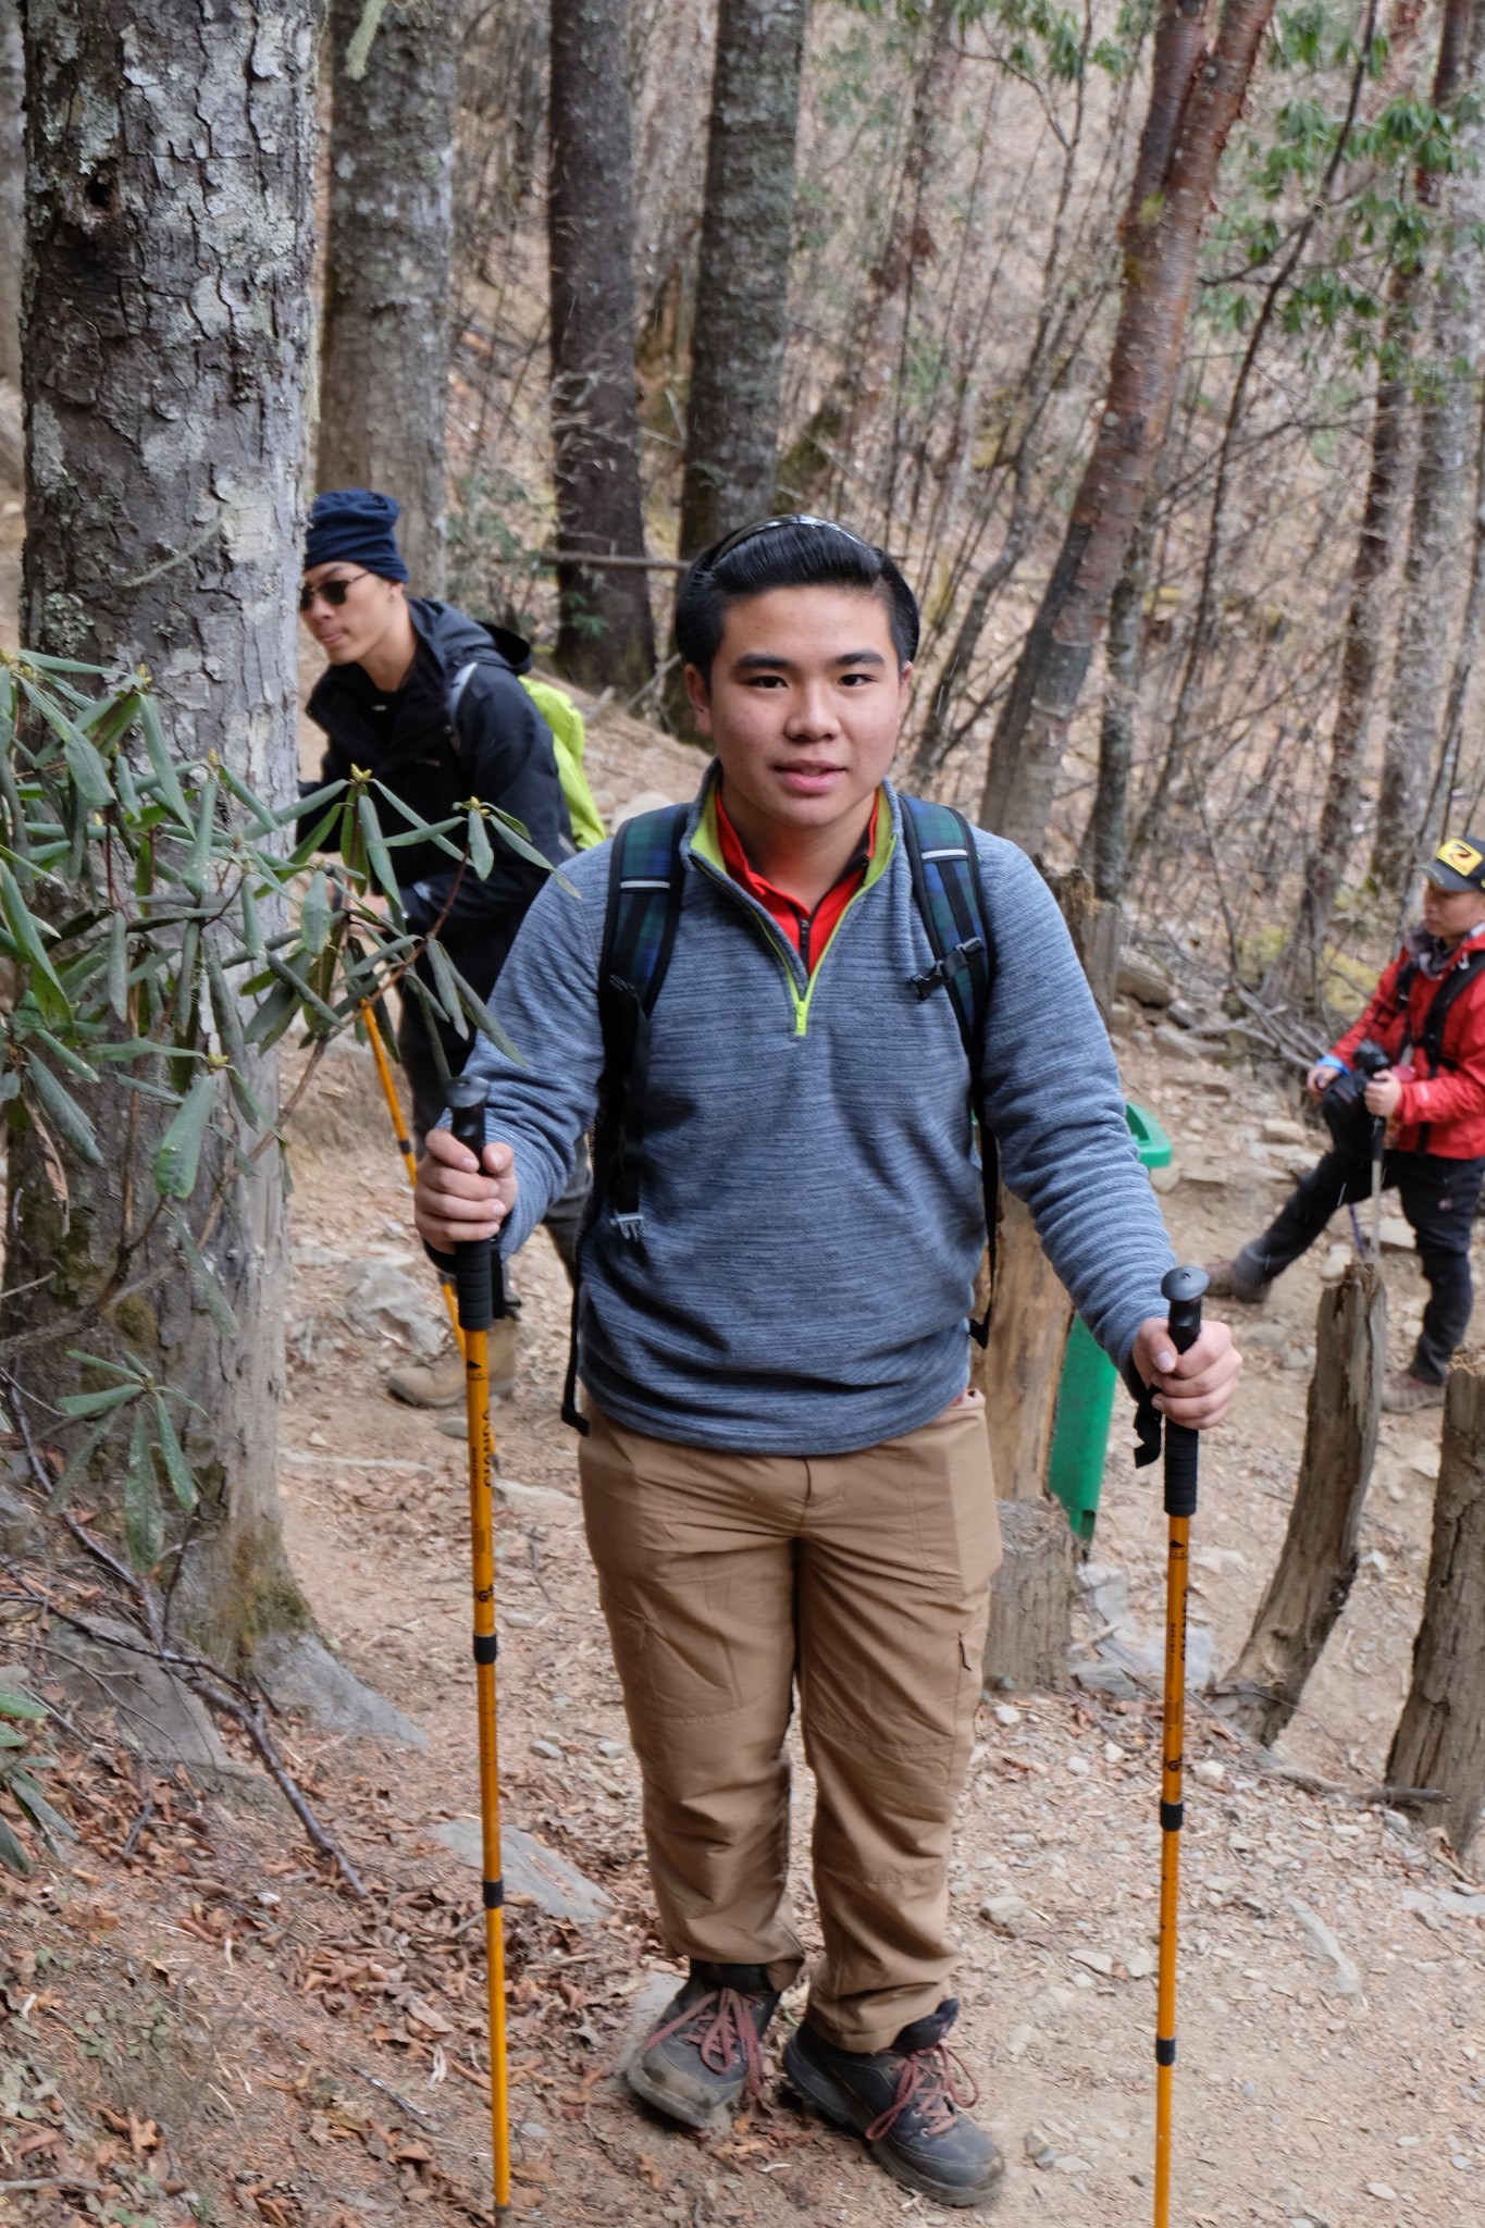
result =
[[[452,1134],[479,1159],[485,1147],[485,1092],[472,1076],[448,1087]],[[490,1502],[490,1366],[485,1341],[505,1315],[499,1241],[474,1239],[454,1248],[454,1290],[463,1332],[465,1401],[470,1430],[470,1542],[474,1548],[474,1693],[479,1702],[479,1823],[485,1905],[485,1990],[490,1999],[490,2121],[494,2130],[494,2210],[510,2203],[510,2094],[505,2083],[505,1887],[501,1880],[501,1749],[496,1729],[494,1660],[494,1511]]]

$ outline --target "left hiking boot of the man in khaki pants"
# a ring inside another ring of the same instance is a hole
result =
[[[761,2041],[779,2001],[766,1965],[704,1965],[661,2012],[626,2068],[637,2097],[686,2128],[726,2126],[746,2092],[764,2094]]]

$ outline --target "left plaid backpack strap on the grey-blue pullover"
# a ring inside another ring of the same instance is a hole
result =
[[[637,1245],[643,1237],[639,1163],[650,1087],[650,1014],[659,998],[681,920],[681,833],[688,804],[637,813],[614,833],[608,862],[608,909],[599,949],[599,1020],[603,1076],[592,1132],[592,1194],[579,1234],[579,1274],[572,1290],[572,1339],[561,1415],[588,1435],[577,1408],[577,1326],[583,1239],[601,1214]]]

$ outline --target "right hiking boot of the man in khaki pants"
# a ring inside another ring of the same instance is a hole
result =
[[[915,2019],[891,2050],[837,2050],[801,2025],[784,2043],[784,2072],[826,2119],[855,2128],[877,2166],[940,2206],[984,2206],[1006,2161],[966,2117],[977,2090],[946,2045],[960,2003]]]

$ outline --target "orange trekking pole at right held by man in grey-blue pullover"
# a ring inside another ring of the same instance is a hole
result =
[[[1171,1346],[1184,1355],[1202,1328],[1207,1272],[1173,1268],[1160,1286]],[[1171,1522],[1164,1593],[1164,1745],[1160,1771],[1160,1983],[1155,1999],[1155,2228],[1171,2221],[1171,2094],[1176,2076],[1176,1918],[1180,1907],[1182,1745],[1187,1724],[1187,1577],[1196,1515],[1196,1433],[1164,1426],[1164,1513]]]

